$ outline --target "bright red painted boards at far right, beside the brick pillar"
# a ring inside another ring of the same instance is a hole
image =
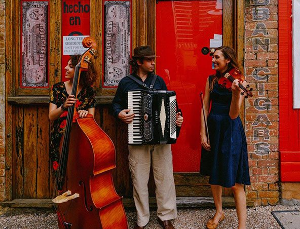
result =
[[[281,181],[300,181],[300,112],[293,109],[291,14],[292,0],[278,0]]]

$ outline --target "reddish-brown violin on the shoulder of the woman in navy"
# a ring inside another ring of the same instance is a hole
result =
[[[248,96],[252,97],[252,90],[253,88],[250,88],[249,90],[247,90],[247,88],[249,88],[250,86],[247,85],[246,87],[244,87],[241,82],[243,82],[245,80],[244,75],[241,74],[240,70],[236,69],[236,68],[230,68],[228,70],[226,70],[223,75],[221,76],[221,78],[218,81],[218,84],[221,85],[221,87],[228,89],[229,91],[231,91],[231,86],[232,83],[238,79],[240,81],[239,83],[239,88],[243,90],[243,92],[241,92],[241,95],[244,95],[245,93],[247,94],[245,96],[245,98],[248,98]]]

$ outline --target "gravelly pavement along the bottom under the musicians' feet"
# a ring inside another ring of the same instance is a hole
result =
[[[281,229],[272,211],[299,210],[299,206],[266,206],[247,209],[248,229]],[[129,228],[133,229],[136,214],[134,209],[126,209]],[[178,217],[173,220],[176,229],[206,228],[206,222],[214,214],[213,208],[180,208]],[[231,229],[238,227],[235,208],[224,208],[225,218],[217,228]],[[0,207],[0,229],[57,229],[57,216],[52,209],[39,208],[2,208]],[[162,229],[159,225],[156,211],[151,211],[151,218],[146,229]],[[87,229],[87,228],[86,228]],[[92,228],[89,228],[92,229]],[[116,228],[117,229],[117,228]]]

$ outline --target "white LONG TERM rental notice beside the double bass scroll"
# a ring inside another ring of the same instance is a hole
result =
[[[82,46],[86,36],[63,36],[63,55],[81,55],[87,49]]]

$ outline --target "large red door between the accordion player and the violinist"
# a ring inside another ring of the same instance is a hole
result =
[[[221,45],[222,0],[158,1],[156,15],[156,52],[160,56],[156,73],[168,90],[176,92],[184,117],[180,136],[172,145],[174,172],[198,172],[199,95],[207,77],[214,73],[208,50]]]

